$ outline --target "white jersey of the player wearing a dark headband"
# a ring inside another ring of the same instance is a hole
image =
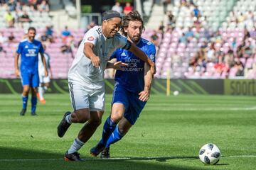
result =
[[[85,42],[90,42],[94,45],[92,51],[100,57],[100,67],[96,68],[83,52]],[[81,84],[86,84],[88,88],[100,89],[104,84],[104,70],[107,66],[107,61],[117,48],[122,48],[127,45],[127,38],[117,33],[113,38],[106,38],[102,34],[102,27],[95,26],[85,33],[85,36],[78,47],[78,52],[75,55],[75,60],[68,72],[69,81],[80,81]],[[82,81],[81,81],[82,80]]]

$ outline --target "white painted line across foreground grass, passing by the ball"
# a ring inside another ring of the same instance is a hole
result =
[[[256,157],[256,155],[231,155],[228,157]],[[84,161],[107,161],[107,160],[159,160],[164,161],[167,159],[198,159],[198,157],[114,157],[110,159],[96,159],[96,158],[87,158],[82,159]],[[41,161],[63,161],[63,158],[50,158],[50,159],[0,159],[0,162],[41,162]]]

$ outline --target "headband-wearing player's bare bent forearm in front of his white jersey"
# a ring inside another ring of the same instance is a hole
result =
[[[93,47],[94,45],[92,43],[85,42],[84,54],[86,57],[88,57],[92,61],[93,66],[97,68],[100,66],[100,57],[95,55],[95,53],[92,50]]]

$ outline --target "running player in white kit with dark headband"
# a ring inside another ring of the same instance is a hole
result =
[[[68,72],[68,86],[73,113],[66,112],[58,125],[58,136],[63,137],[71,123],[85,123],[65,153],[65,161],[82,161],[78,150],[90,139],[101,123],[105,110],[104,70],[124,69],[122,62],[108,60],[114,50],[124,48],[149,64],[155,73],[155,64],[142,50],[118,33],[122,18],[117,11],[106,11],[102,26],[95,26],[85,33],[75,60]],[[132,80],[131,80],[132,81]]]

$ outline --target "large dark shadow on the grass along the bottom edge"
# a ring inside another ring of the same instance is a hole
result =
[[[43,150],[43,148],[42,148]],[[90,169],[90,170],[201,170],[206,167],[188,167],[173,165],[166,162],[169,159],[197,159],[197,157],[127,157],[99,159],[82,157],[85,162],[64,162],[63,154],[41,152],[28,149],[0,147],[0,169],[3,170],[60,170],[60,169]],[[149,161],[152,160],[152,161]],[[159,162],[154,162],[154,160]],[[176,162],[175,162],[176,163]],[[209,167],[207,168],[209,169]]]

